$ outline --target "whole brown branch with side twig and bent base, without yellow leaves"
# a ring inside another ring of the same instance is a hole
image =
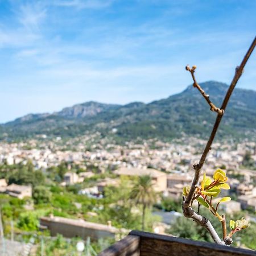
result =
[[[191,185],[191,188],[189,190],[188,196],[187,196],[186,199],[184,198],[183,204],[182,204],[184,216],[188,217],[188,218],[192,218],[193,220],[198,222],[200,225],[204,226],[208,230],[208,232],[210,233],[210,236],[212,236],[214,242],[216,242],[220,245],[230,245],[232,243],[232,239],[230,239],[229,237],[226,237],[226,233],[224,234],[224,232],[223,232],[223,236],[225,235],[225,238],[224,238],[224,241],[222,241],[220,239],[220,237],[218,237],[218,234],[217,234],[216,230],[213,228],[212,224],[210,224],[210,221],[207,220],[207,218],[205,218],[205,217],[203,217],[199,214],[196,214],[195,211],[191,208],[191,204],[192,204],[192,200],[193,200],[194,195],[195,195],[197,184],[199,183],[199,178],[200,178],[200,175],[201,175],[201,169],[204,166],[204,162],[205,162],[205,159],[207,157],[207,154],[211,149],[213,139],[214,139],[214,137],[217,133],[218,126],[220,125],[220,122],[221,122],[221,119],[224,115],[226,106],[228,105],[229,98],[230,98],[238,80],[240,79],[240,77],[243,73],[243,68],[245,67],[245,64],[247,63],[247,60],[249,59],[249,57],[250,57],[251,53],[253,52],[255,46],[256,46],[256,37],[254,38],[253,43],[251,44],[250,48],[248,49],[245,57],[243,57],[243,60],[240,64],[240,66],[236,68],[236,73],[233,77],[233,80],[232,80],[232,82],[229,86],[228,92],[226,92],[226,96],[225,96],[224,101],[222,102],[222,105],[221,105],[221,110],[223,110],[223,112],[217,112],[216,121],[213,125],[212,132],[211,132],[209,140],[208,140],[208,142],[207,142],[207,144],[204,148],[203,154],[201,155],[200,161],[199,161],[199,163],[194,164],[194,166],[193,166],[193,168],[195,170],[195,175],[194,175],[194,178],[193,178],[192,185]],[[194,69],[194,71],[195,71],[195,69]],[[192,76],[192,77],[193,77],[193,80],[194,80],[195,76]],[[194,83],[194,86],[195,86],[197,83],[196,83],[195,80],[194,80],[194,82],[195,82]],[[197,87],[197,89],[199,89],[200,86],[196,86],[196,87]],[[203,96],[204,96],[204,94],[203,94]],[[208,97],[206,97],[205,100],[207,100],[207,98]],[[208,100],[209,100],[209,98],[208,98]],[[207,101],[207,102],[209,103],[209,101]],[[211,106],[211,108],[212,108],[212,106]],[[225,227],[226,227],[226,224],[225,224]],[[224,229],[223,226],[222,226],[222,230],[226,230],[226,228]]]

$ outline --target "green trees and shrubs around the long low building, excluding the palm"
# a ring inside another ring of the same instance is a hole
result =
[[[130,200],[132,186],[137,179],[122,177],[119,187],[106,187],[105,197],[94,199],[79,195],[77,192],[80,188],[95,184],[95,181],[100,177],[113,176],[112,174],[106,172],[104,175],[96,175],[96,177],[85,180],[82,184],[77,184],[79,188],[76,189],[74,188],[76,185],[60,187],[57,181],[51,180],[51,177],[59,180],[68,171],[65,163],[49,168],[46,172],[34,170],[31,163],[25,166],[21,164],[4,165],[0,167],[0,170],[1,177],[5,177],[9,183],[17,181],[21,185],[31,184],[33,191],[32,198],[24,198],[23,200],[0,194],[5,237],[10,238],[11,232],[14,232],[14,237],[22,236],[24,241],[28,241],[30,236],[36,235],[36,242],[40,243],[41,238],[48,241],[47,244],[44,244],[46,255],[63,255],[61,251],[67,253],[74,250],[75,243],[78,241],[75,239],[67,241],[61,236],[52,240],[48,232],[40,232],[39,218],[49,216],[49,214],[69,218],[83,218],[86,221],[102,224],[107,224],[111,220],[112,225],[117,228],[141,229],[142,208],[140,205],[133,206],[133,202]],[[26,175],[28,170],[32,174]],[[39,174],[40,182],[38,180]],[[151,211],[147,210],[144,216],[145,230],[152,231],[152,224],[155,220],[158,220],[158,218],[152,217]],[[11,223],[13,223],[13,228],[11,228]],[[93,242],[92,246],[98,253],[113,242],[108,239],[101,240]]]

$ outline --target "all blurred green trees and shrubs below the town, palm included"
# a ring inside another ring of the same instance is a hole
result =
[[[156,195],[151,189],[151,180],[148,177],[138,179],[121,177],[117,187],[106,187],[104,197],[95,199],[79,195],[77,192],[81,188],[95,185],[96,180],[100,178],[112,177],[113,175],[109,172],[86,179],[81,184],[60,187],[59,181],[68,171],[65,163],[49,168],[46,172],[34,170],[30,162],[25,166],[21,164],[3,165],[0,170],[1,177],[6,177],[9,183],[15,181],[19,184],[31,184],[33,189],[32,198],[23,200],[0,194],[5,236],[10,238],[13,231],[15,237],[22,236],[24,241],[28,241],[30,236],[36,234],[36,241],[40,246],[42,239],[48,241],[44,243],[44,251],[48,253],[47,255],[63,255],[61,251],[72,251],[78,240],[67,241],[61,236],[52,240],[48,232],[42,233],[39,231],[39,218],[42,216],[54,214],[55,216],[69,218],[83,218],[86,221],[103,224],[111,220],[112,225],[117,228],[127,230],[144,229],[148,232],[152,232],[155,221],[160,221],[159,217],[153,217],[151,214],[151,207],[156,201]],[[72,171],[79,172],[79,168]],[[30,172],[29,175],[28,172]],[[154,207],[166,211],[176,210],[181,212],[180,201],[163,197],[159,202]],[[203,214],[210,219],[214,227],[217,228],[217,232],[221,234],[221,225],[217,218],[212,217],[208,211],[204,211]],[[237,216],[232,216],[232,218],[240,218],[243,215],[245,215],[245,212],[238,213]],[[231,216],[227,216],[228,220],[230,218]],[[11,228],[11,223],[13,223],[13,228]],[[212,242],[207,230],[184,217],[178,218],[169,232],[175,236]],[[256,225],[254,223],[251,224],[250,228],[235,236],[240,238],[238,240],[234,239],[234,245],[241,242],[246,247],[256,249]],[[92,247],[98,253],[104,246],[109,246],[110,243],[113,243],[113,241],[102,240],[92,243]]]

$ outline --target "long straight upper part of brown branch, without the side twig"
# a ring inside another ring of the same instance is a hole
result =
[[[229,101],[229,98],[233,92],[233,89],[234,87],[236,86],[238,80],[240,79],[241,75],[242,75],[242,72],[243,72],[243,68],[245,67],[245,64],[247,62],[247,60],[249,59],[251,53],[253,52],[253,49],[255,48],[256,46],[256,37],[254,38],[253,40],[253,43],[251,44],[249,50],[247,51],[245,57],[243,57],[243,60],[242,60],[242,63],[241,65],[236,68],[236,73],[234,75],[234,78],[229,86],[229,89],[228,89],[228,92],[226,93],[226,96],[224,98],[224,101],[222,103],[222,106],[221,106],[221,109],[225,111],[226,109],[226,105],[228,104],[228,101]],[[191,189],[188,193],[188,196],[187,196],[187,199],[185,200],[184,202],[184,207],[185,208],[188,208],[189,206],[191,206],[191,201],[193,199],[193,195],[195,193],[195,190],[196,190],[196,185],[198,184],[199,182],[199,177],[200,177],[200,174],[201,174],[201,169],[204,165],[204,162],[205,162],[205,159],[207,157],[207,154],[208,152],[210,151],[210,148],[212,146],[212,142],[213,142],[213,139],[217,133],[217,130],[218,130],[218,126],[220,125],[220,122],[221,122],[221,119],[223,117],[223,114],[217,114],[217,118],[216,118],[216,121],[214,123],[214,126],[213,126],[213,129],[212,129],[212,133],[210,134],[210,137],[209,137],[209,140],[204,148],[204,151],[203,151],[203,154],[201,156],[201,159],[199,161],[198,164],[195,164],[193,167],[194,167],[194,170],[195,170],[195,176],[193,178],[193,181],[192,181],[192,185],[191,185]]]

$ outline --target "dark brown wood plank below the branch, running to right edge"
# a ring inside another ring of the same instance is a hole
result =
[[[129,236],[140,236],[140,256],[255,256],[256,251],[192,241],[184,238],[132,231]]]

